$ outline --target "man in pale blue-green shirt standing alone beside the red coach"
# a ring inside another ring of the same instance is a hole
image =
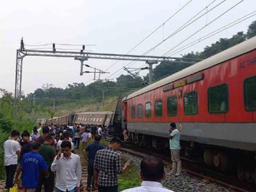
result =
[[[180,131],[176,128],[175,123],[170,124],[169,128],[170,132],[170,150],[171,150],[171,160],[172,160],[172,171],[175,176],[180,175],[180,171],[182,168],[180,161]]]

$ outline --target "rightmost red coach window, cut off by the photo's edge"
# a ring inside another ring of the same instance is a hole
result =
[[[244,106],[246,110],[256,110],[256,76],[244,80]]]

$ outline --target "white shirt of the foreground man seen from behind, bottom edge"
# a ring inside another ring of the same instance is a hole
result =
[[[162,183],[143,181],[140,187],[130,188],[122,192],[174,192],[163,187]]]

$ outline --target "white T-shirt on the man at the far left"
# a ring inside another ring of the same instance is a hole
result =
[[[18,155],[16,152],[20,151],[20,143],[15,140],[7,140],[4,142],[4,165],[17,165]]]

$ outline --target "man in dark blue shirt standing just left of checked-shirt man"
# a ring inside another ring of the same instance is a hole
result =
[[[96,152],[101,149],[104,149],[104,146],[102,146],[102,144],[99,143],[99,141],[101,140],[101,135],[95,135],[94,140],[95,140],[94,143],[88,145],[87,148],[84,149],[85,159],[88,160],[88,178],[87,178],[87,188],[86,188],[87,191],[96,190],[94,188],[94,177],[93,177],[94,159],[95,159]],[[93,186],[92,189],[91,189],[91,185]]]

